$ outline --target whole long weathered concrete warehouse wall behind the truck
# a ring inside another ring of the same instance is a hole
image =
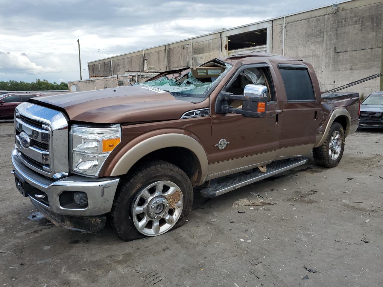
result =
[[[148,70],[164,71],[190,66],[192,54],[193,65],[199,65],[214,57],[253,51],[281,55],[284,52],[286,56],[311,62],[322,91],[379,73],[382,65],[383,2],[354,0],[338,5],[337,10],[330,5],[89,62],[89,75],[110,76],[143,71],[144,59],[147,59]],[[228,51],[230,36],[260,29],[267,29],[264,46]],[[376,78],[348,90],[368,96],[379,90],[379,81]]]

